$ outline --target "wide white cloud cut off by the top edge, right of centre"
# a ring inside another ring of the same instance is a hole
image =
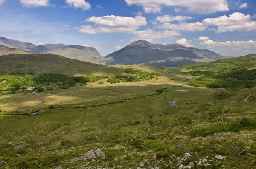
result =
[[[146,13],[160,13],[162,6],[185,7],[190,12],[209,14],[228,11],[227,0],[125,0],[128,5],[142,6]],[[176,10],[175,11],[180,11]]]

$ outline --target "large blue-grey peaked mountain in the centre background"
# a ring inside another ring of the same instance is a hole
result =
[[[224,56],[213,51],[188,48],[180,44],[152,44],[145,40],[138,40],[119,51],[105,56],[105,58],[111,59],[106,63],[107,65],[143,64],[174,67],[185,63],[222,59]]]

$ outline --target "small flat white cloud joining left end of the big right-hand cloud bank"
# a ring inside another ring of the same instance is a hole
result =
[[[181,22],[179,24],[163,23],[162,25],[159,25],[159,28],[173,29],[173,30],[180,30],[180,31],[204,31],[205,29],[207,29],[207,25],[204,25],[201,22],[196,22],[196,23]]]

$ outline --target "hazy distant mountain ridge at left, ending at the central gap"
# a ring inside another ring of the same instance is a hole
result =
[[[0,45],[17,48],[22,50],[44,52],[48,54],[58,54],[70,59],[77,59],[81,61],[99,63],[102,56],[97,49],[79,45],[64,45],[64,44],[45,44],[45,45],[33,45],[32,43],[21,42],[18,40],[7,39],[0,37]],[[23,53],[22,53],[23,54]]]

